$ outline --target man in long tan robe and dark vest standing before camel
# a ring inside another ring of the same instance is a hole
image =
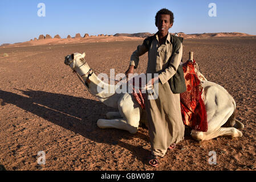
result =
[[[155,24],[159,31],[145,39],[132,53],[129,68],[125,72],[127,77],[129,73],[133,73],[133,69],[139,64],[139,56],[148,51],[147,73],[159,74],[147,81],[153,85],[159,80],[159,97],[156,100],[149,100],[147,93],[145,100],[151,140],[149,164],[152,166],[157,166],[157,158],[163,157],[168,148],[173,149],[176,143],[184,138],[185,126],[181,117],[180,94],[174,94],[168,82],[176,73],[182,58],[182,43],[177,36],[172,36],[168,32],[173,26],[173,19],[173,13],[168,9],[157,12]]]

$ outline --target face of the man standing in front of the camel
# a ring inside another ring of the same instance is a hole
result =
[[[168,34],[168,30],[172,27],[173,23],[170,23],[170,15],[159,15],[157,18],[157,28],[162,35]]]

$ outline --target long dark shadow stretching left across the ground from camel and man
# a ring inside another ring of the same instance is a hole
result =
[[[6,104],[16,105],[94,142],[119,145],[131,151],[137,159],[145,162],[145,155],[148,154],[148,150],[121,142],[120,139],[141,138],[149,142],[147,135],[140,132],[130,134],[124,130],[99,129],[97,127],[97,119],[105,118],[105,113],[115,111],[113,108],[105,106],[99,101],[66,94],[40,90],[19,90],[19,92],[27,97],[0,90],[0,104],[2,106]]]

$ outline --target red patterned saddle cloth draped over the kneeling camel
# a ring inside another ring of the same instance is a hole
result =
[[[184,125],[189,126],[193,130],[206,132],[208,130],[208,121],[205,104],[201,97],[202,87],[194,68],[195,64],[196,61],[193,61],[193,63],[187,61],[183,64],[186,92],[180,94],[181,115]],[[145,93],[141,93],[140,89],[137,89],[136,92],[136,89],[133,88],[132,95],[141,108],[145,109]]]

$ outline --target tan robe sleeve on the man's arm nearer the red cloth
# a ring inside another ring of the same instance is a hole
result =
[[[180,44],[180,47],[176,52],[174,52],[172,59],[169,62],[169,67],[164,69],[164,71],[159,74],[159,79],[162,84],[165,84],[165,82],[168,81],[177,72],[178,65],[180,65],[182,59],[182,50],[183,46]]]

